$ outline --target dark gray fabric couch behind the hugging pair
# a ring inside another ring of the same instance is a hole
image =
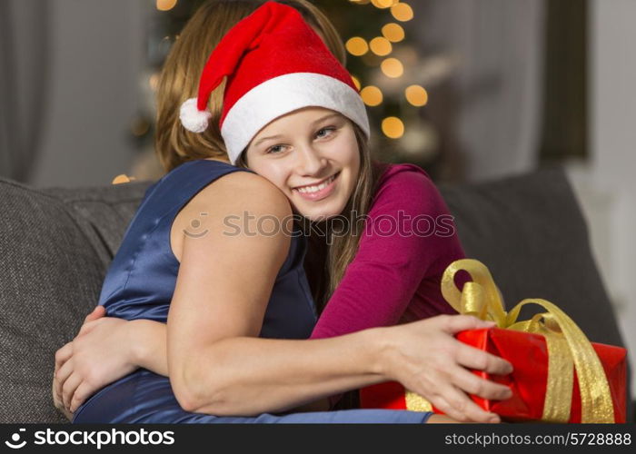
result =
[[[149,184],[35,190],[0,179],[0,422],[65,422],[51,400],[55,350],[93,310]],[[489,266],[509,307],[542,297],[591,341],[623,345],[561,169],[442,195],[466,253]]]

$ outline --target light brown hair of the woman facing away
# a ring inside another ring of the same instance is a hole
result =
[[[221,137],[219,120],[225,83],[210,96],[212,114],[204,133],[187,131],[179,121],[181,104],[197,94],[205,62],[221,38],[240,20],[251,15],[264,0],[211,0],[202,5],[184,26],[164,63],[157,89],[157,117],[154,149],[164,171],[194,159],[215,158],[229,161]],[[304,20],[323,36],[325,44],[344,65],[343,42],[332,23],[307,0],[278,0],[303,15]]]

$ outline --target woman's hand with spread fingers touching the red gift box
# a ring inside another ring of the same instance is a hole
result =
[[[470,370],[505,375],[512,365],[502,358],[475,349],[453,336],[459,331],[492,328],[491,321],[467,315],[439,315],[389,328],[386,373],[408,390],[420,394],[452,419],[468,422],[500,422],[499,416],[482,410],[466,393],[484,399],[505,400],[512,391],[483,380]]]

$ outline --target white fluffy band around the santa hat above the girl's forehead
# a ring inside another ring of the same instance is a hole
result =
[[[265,125],[283,114],[309,106],[343,114],[369,137],[366,108],[360,94],[351,86],[324,74],[283,74],[255,86],[225,116],[221,135],[230,161],[236,162]]]

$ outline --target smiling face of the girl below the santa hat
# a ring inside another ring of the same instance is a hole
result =
[[[353,123],[322,107],[285,114],[257,133],[247,165],[275,184],[296,212],[321,221],[343,212],[360,173]]]

